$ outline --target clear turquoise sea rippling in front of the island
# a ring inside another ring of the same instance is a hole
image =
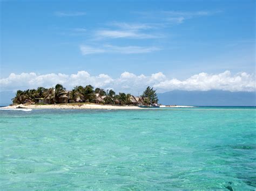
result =
[[[255,189],[255,108],[0,110],[1,189]]]

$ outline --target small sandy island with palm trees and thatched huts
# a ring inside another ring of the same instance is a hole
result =
[[[187,108],[181,105],[160,105],[156,90],[147,87],[141,96],[119,93],[112,89],[94,89],[87,85],[66,90],[62,84],[52,88],[17,90],[13,104],[2,109],[145,109]]]

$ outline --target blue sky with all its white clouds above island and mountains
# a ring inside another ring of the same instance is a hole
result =
[[[0,91],[255,91],[255,1],[1,1]]]

